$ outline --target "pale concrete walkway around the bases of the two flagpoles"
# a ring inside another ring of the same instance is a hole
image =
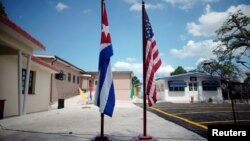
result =
[[[116,101],[113,118],[105,116],[105,134],[129,141],[142,134],[143,110],[133,103]],[[147,113],[148,134],[159,141],[206,140],[179,125]],[[100,113],[94,105],[83,105],[80,96],[65,100],[49,111],[0,120],[0,141],[88,141],[100,133]]]

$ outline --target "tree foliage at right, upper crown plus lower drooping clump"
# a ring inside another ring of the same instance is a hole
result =
[[[218,45],[213,53],[217,55],[217,59],[202,62],[198,66],[198,70],[230,80],[238,80],[242,77],[233,60],[243,56],[250,57],[249,27],[250,17],[244,15],[241,10],[230,14],[216,31],[217,39],[214,42]]]

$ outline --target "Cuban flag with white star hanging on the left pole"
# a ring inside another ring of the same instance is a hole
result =
[[[101,50],[99,55],[99,74],[95,94],[95,105],[101,113],[112,117],[115,107],[115,91],[110,65],[110,58],[113,56],[111,37],[109,32],[108,18],[105,3],[102,3],[102,33]]]

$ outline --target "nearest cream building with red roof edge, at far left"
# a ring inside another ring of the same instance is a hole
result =
[[[4,117],[48,109],[50,77],[58,69],[34,57],[35,50],[45,47],[0,14],[0,100],[5,100],[0,108],[4,107]]]

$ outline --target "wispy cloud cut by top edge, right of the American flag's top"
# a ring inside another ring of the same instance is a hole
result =
[[[193,6],[197,4],[198,2],[213,3],[213,2],[217,2],[218,0],[201,0],[201,1],[199,0],[163,0],[163,1],[171,4],[172,6],[176,6],[180,8],[181,10],[188,11],[189,9],[193,8]]]

